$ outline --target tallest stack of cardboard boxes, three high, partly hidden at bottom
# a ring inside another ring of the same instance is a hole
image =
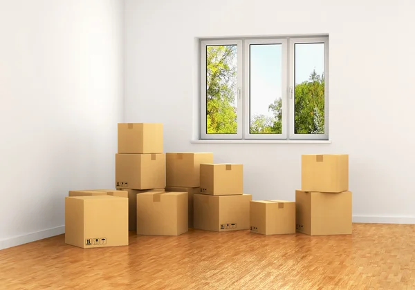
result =
[[[163,147],[163,124],[118,124],[116,189],[127,191],[129,231],[137,231],[138,193],[165,191],[166,161]]]

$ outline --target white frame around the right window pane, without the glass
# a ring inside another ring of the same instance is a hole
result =
[[[295,43],[324,43],[324,134],[295,134]],[[329,38],[328,37],[307,37],[291,38],[289,54],[289,139],[328,139],[329,138]]]

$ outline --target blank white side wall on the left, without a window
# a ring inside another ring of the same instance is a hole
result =
[[[64,233],[70,189],[114,186],[123,2],[0,0],[0,249]]]

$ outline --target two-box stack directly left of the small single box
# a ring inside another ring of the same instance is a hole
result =
[[[252,195],[243,193],[242,164],[200,164],[200,193],[194,194],[194,229],[249,229]]]

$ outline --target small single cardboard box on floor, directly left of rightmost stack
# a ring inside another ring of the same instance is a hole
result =
[[[295,202],[286,200],[252,200],[250,231],[262,235],[295,233]]]

